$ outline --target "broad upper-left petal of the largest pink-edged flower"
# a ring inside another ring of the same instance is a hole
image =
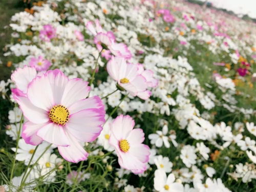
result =
[[[54,105],[52,87],[48,74],[37,76],[28,86],[28,98],[38,108],[49,111]]]

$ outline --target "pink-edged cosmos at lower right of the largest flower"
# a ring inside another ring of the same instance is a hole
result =
[[[119,115],[110,125],[109,142],[115,147],[119,165],[134,174],[140,174],[146,170],[150,147],[142,144],[145,139],[143,130],[133,129],[134,125],[129,115]]]

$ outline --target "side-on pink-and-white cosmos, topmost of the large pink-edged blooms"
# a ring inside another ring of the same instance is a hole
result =
[[[103,49],[101,44],[104,44],[115,56],[124,57],[126,59],[132,57],[131,51],[125,44],[116,42],[116,37],[112,31],[103,31],[98,19],[95,20],[95,25],[90,21],[86,24],[86,27],[94,35],[94,43],[99,51]],[[107,60],[110,59],[109,55],[101,53],[101,56],[105,57]]]

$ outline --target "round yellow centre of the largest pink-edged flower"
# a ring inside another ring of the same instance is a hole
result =
[[[69,121],[69,110],[60,104],[55,105],[49,111],[49,118],[54,123],[65,125]]]

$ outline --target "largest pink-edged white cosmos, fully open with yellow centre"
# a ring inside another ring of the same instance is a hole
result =
[[[58,146],[60,155],[70,162],[86,160],[81,142],[94,141],[105,122],[104,105],[98,96],[86,98],[88,82],[69,79],[60,70],[36,76],[27,95],[14,94],[24,116],[22,137],[38,145],[43,140]]]

